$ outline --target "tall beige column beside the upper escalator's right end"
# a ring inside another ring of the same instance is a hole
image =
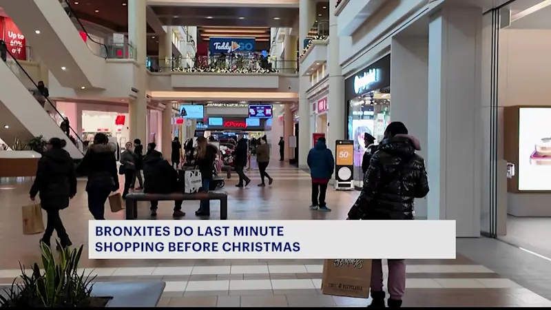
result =
[[[128,38],[136,49],[136,59],[140,66],[134,72],[134,81],[138,89],[136,99],[129,103],[129,130],[130,140],[135,138],[147,141],[147,83],[145,81],[145,58],[147,56],[147,23],[146,0],[133,0],[128,2]]]

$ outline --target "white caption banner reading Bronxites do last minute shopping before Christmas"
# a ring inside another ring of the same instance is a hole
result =
[[[90,220],[90,259],[455,259],[455,220]]]

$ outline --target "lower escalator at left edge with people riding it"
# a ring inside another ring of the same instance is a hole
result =
[[[69,138],[59,127],[63,116],[55,105],[43,96],[38,83],[14,59],[7,50],[6,61],[0,61],[0,138],[5,143],[21,141],[25,144],[32,138],[43,136],[45,140],[65,138],[65,150],[74,159],[83,158],[84,143],[79,134],[69,126]]]

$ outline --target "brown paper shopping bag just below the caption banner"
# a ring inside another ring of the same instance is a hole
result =
[[[324,260],[322,294],[368,298],[371,260]]]

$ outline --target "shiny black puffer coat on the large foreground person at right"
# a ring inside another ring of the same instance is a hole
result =
[[[364,187],[349,211],[351,220],[413,220],[413,200],[428,194],[425,163],[406,135],[382,141],[364,176]]]

